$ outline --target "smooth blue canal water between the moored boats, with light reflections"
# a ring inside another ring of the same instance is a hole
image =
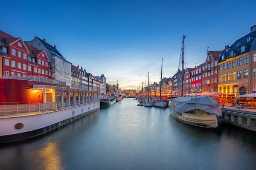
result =
[[[186,125],[167,108],[125,98],[45,135],[0,146],[0,170],[255,170],[255,134]]]

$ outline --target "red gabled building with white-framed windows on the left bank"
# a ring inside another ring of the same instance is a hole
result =
[[[12,37],[3,31],[0,31],[0,46],[3,76],[34,75],[51,78],[49,59],[43,50],[37,50],[21,38]]]

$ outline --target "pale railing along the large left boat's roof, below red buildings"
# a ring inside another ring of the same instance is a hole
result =
[[[48,79],[45,77],[38,77],[38,76],[3,76],[4,79],[22,79],[22,80],[31,80],[35,82],[44,82],[50,83],[55,85],[66,85],[66,82],[61,82],[58,80]]]

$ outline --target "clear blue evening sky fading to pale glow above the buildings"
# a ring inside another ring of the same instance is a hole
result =
[[[2,4],[3,5],[3,4]],[[256,25],[256,1],[84,0],[6,1],[0,29],[14,37],[46,38],[74,65],[109,84],[137,88],[177,71],[182,35],[189,67],[207,47],[221,51]]]

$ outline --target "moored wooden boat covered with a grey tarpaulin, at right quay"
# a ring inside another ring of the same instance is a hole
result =
[[[169,112],[173,118],[199,127],[216,128],[222,122],[222,112],[216,98],[208,96],[172,99]]]

